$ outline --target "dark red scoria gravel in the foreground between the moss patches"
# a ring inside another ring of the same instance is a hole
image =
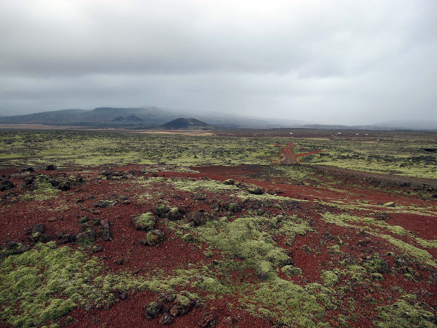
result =
[[[80,174],[84,181],[72,185],[68,191],[60,191],[55,194],[55,197],[46,200],[21,199],[20,195],[30,192],[28,186],[23,186],[23,179],[29,174],[45,174],[54,177],[59,172],[38,171],[13,174],[10,181],[14,183],[15,187],[0,192],[2,199],[0,206],[2,218],[1,248],[5,248],[8,241],[30,244],[33,247],[28,231],[36,223],[43,223],[45,226],[44,234],[53,236],[54,240],[56,240],[57,234],[76,234],[80,231],[78,220],[83,216],[89,216],[92,219],[108,220],[109,223],[112,239],[103,241],[100,236],[95,239],[95,245],[102,245],[102,250],[94,255],[105,260],[104,273],[127,271],[133,272],[134,276],[139,276],[142,275],[142,272],[162,270],[164,275],[170,275],[175,269],[212,265],[214,261],[221,260],[224,256],[220,250],[215,249],[213,256],[206,257],[204,250],[208,244],[184,241],[166,224],[168,221],[166,218],[156,217],[155,225],[155,229],[160,230],[165,235],[165,240],[157,246],[141,245],[139,241],[144,239],[145,232],[133,227],[132,217],[139,213],[155,213],[157,205],[165,204],[180,209],[183,213],[180,220],[188,223],[189,218],[194,213],[202,210],[212,211],[218,201],[229,204],[233,199],[230,195],[232,191],[202,190],[203,199],[194,199],[196,193],[181,191],[174,188],[168,181],[171,181],[172,178],[190,181],[209,181],[209,179],[225,181],[232,178],[235,183],[240,182],[242,188],[244,185],[248,188],[258,186],[272,195],[277,193],[280,197],[308,201],[290,202],[282,208],[275,207],[271,203],[266,205],[263,202],[246,201],[239,204],[242,209],[236,210],[234,213],[229,213],[227,209],[220,207],[214,212],[215,217],[232,214],[238,218],[243,216],[246,210],[251,209],[267,212],[273,217],[278,215],[297,216],[308,221],[313,231],[304,235],[296,235],[295,240],[290,241],[284,235],[275,235],[274,242],[277,246],[284,249],[293,260],[293,265],[302,270],[302,275],[290,277],[281,271],[281,267],[278,267],[280,278],[291,280],[300,286],[306,286],[308,283],[320,283],[323,270],[344,268],[339,263],[348,259],[353,259],[356,265],[362,265],[374,256],[382,258],[388,268],[391,268],[391,272],[383,273],[384,279],[378,282],[373,282],[371,279],[356,281],[350,275],[340,275],[338,284],[333,288],[335,290],[341,287],[344,290],[344,295],[339,299],[341,306],[334,310],[326,309],[325,327],[374,327],[375,321],[378,320],[378,307],[393,304],[406,294],[415,295],[416,303],[427,304],[427,311],[433,315],[436,314],[437,271],[432,265],[424,265],[414,259],[409,259],[408,267],[414,269],[414,279],[406,279],[403,276],[402,268],[399,268],[399,265],[396,266],[395,257],[388,255],[390,253],[404,254],[405,251],[388,243],[386,239],[381,237],[382,233],[369,233],[367,223],[356,222],[353,223],[353,226],[340,226],[323,220],[323,215],[328,212],[338,216],[346,213],[350,216],[374,217],[370,213],[378,214],[387,210],[388,217],[384,222],[390,226],[403,227],[411,233],[399,236],[383,227],[377,227],[378,231],[417,248],[426,249],[436,260],[436,248],[424,248],[415,239],[416,237],[431,241],[437,239],[436,199],[423,199],[417,195],[407,194],[405,188],[398,188],[397,192],[393,192],[365,184],[361,186],[343,185],[338,183],[339,181],[324,177],[319,177],[319,181],[329,182],[329,188],[323,184],[322,187],[293,185],[284,177],[281,179],[277,177],[265,178],[264,175],[262,179],[257,179],[254,177],[260,173],[260,170],[262,171],[262,168],[249,165],[195,168],[201,173],[162,171],[164,169],[170,170],[169,167],[152,169],[146,165],[131,165],[113,169],[113,171],[120,172],[130,171],[132,176],[128,176],[126,179],[117,177],[117,174],[114,174],[113,179],[108,179],[102,175],[103,171],[99,168],[86,172],[81,170],[60,171],[65,173],[67,177],[72,174]],[[155,180],[153,184],[147,185],[138,183],[139,178],[151,177],[164,179]],[[147,195],[147,197],[139,195]],[[11,202],[12,199],[15,199],[16,202]],[[114,206],[96,207],[96,203],[100,200],[115,201]],[[363,200],[365,203],[362,202]],[[403,212],[402,210],[396,212],[393,208],[383,208],[378,205],[387,202],[395,202],[397,207],[394,209],[403,209]],[[417,213],[410,213],[413,207],[418,209]],[[83,250],[76,241],[67,244],[74,249]],[[334,247],[337,246],[337,251],[335,251]],[[91,248],[85,248],[83,251],[90,256],[93,255]],[[123,263],[117,264],[116,261],[120,259],[123,260]],[[236,257],[232,259],[236,262],[242,261]],[[227,278],[236,285],[246,282],[256,286],[263,281],[263,277],[259,276],[253,269],[228,273]],[[218,279],[221,277],[220,274],[223,272],[218,272]],[[367,278],[370,277],[368,274],[365,275]],[[184,289],[198,293],[202,301],[186,314],[173,318],[173,322],[168,325],[169,327],[251,328],[284,326],[278,323],[279,321],[277,322],[275,318],[250,312],[244,306],[236,306],[239,304],[241,295],[228,293],[212,298],[208,297],[211,293],[207,293],[205,290],[190,286],[184,287]],[[176,290],[178,290],[177,287]],[[68,324],[68,327],[163,326],[159,322],[159,318],[146,318],[145,307],[150,302],[157,300],[158,293],[149,290],[129,290],[127,295],[126,299],[117,300],[109,309],[78,307],[60,318],[58,322],[61,326],[67,326],[66,317],[71,316],[73,320],[70,320],[72,322]],[[350,302],[352,299],[353,305]],[[234,305],[231,307],[229,304]],[[2,304],[0,310],[3,311],[6,306],[7,304]],[[211,312],[214,320],[202,321],[205,312]],[[346,319],[341,321],[339,315],[344,315]],[[435,322],[435,318],[432,320],[430,322]],[[314,322],[316,326],[321,321],[315,320]],[[3,322],[3,326],[9,327],[10,325]],[[292,323],[288,326],[299,327],[298,323]]]

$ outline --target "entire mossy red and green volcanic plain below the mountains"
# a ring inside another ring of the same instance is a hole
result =
[[[437,133],[204,132],[1,130],[3,325],[437,327]]]

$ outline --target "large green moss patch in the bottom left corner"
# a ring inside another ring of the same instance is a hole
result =
[[[121,290],[132,286],[120,275],[102,279],[101,269],[96,258],[66,246],[58,248],[55,242],[10,255],[0,267],[0,317],[14,327],[42,325],[89,301],[108,300],[114,286]]]

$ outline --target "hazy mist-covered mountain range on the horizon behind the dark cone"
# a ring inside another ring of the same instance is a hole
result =
[[[173,110],[149,106],[144,108],[97,107],[92,110],[63,109],[27,115],[0,116],[0,124],[45,124],[59,126],[90,126],[96,128],[151,128],[181,117],[194,117],[208,126],[222,128],[307,128],[355,130],[437,130],[437,121],[392,120],[371,125],[314,124],[293,119],[275,119],[233,115],[220,112]],[[205,126],[204,126],[205,127]],[[187,128],[194,128],[188,124]]]

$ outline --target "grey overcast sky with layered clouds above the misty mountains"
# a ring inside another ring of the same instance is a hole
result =
[[[0,1],[0,115],[437,120],[437,1]]]

